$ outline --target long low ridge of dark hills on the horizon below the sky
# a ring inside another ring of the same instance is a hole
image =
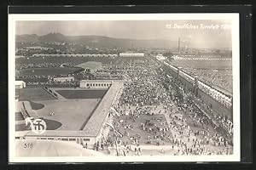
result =
[[[77,42],[98,48],[176,48],[177,41],[172,40],[137,40],[102,36],[64,36],[61,33],[49,33],[44,36],[17,35],[16,42]]]

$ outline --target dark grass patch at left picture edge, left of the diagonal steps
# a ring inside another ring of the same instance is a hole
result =
[[[21,88],[16,90],[20,101],[41,101],[55,99],[48,94],[43,88]]]

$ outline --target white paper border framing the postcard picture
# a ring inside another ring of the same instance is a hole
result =
[[[15,156],[15,21],[17,20],[231,20],[234,151],[230,156]],[[239,14],[9,14],[9,162],[240,161]],[[11,125],[11,126],[10,126]]]

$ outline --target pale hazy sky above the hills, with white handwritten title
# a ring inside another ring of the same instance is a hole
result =
[[[208,27],[205,27],[208,26]],[[215,26],[215,27],[214,27]],[[225,26],[225,27],[224,27]],[[16,35],[96,35],[129,39],[181,41],[192,48],[231,48],[229,20],[55,20],[17,21]]]

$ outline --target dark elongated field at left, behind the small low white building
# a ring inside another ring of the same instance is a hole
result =
[[[29,68],[20,70],[20,76],[60,76],[72,74],[80,69],[73,67]]]

